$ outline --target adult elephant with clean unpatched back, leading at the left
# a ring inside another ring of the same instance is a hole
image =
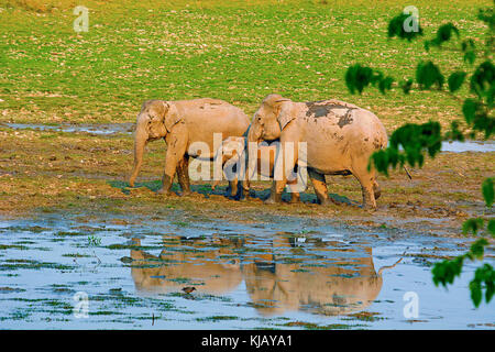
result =
[[[201,98],[145,101],[138,116],[131,187],[134,187],[135,178],[140,173],[146,143],[164,139],[167,152],[162,188],[158,193],[164,195],[170,193],[176,170],[183,193],[190,193],[188,161],[189,156],[197,157],[199,154],[188,154],[189,146],[195,142],[206,143],[210,154],[200,156],[211,160],[215,156],[215,133],[221,133],[222,140],[229,136],[239,136],[248,130],[249,124],[250,119],[241,109],[223,100]]]

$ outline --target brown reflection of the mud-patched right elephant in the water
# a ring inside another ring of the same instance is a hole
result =
[[[294,239],[274,239],[274,254],[256,255],[252,263],[242,265],[249,295],[262,315],[285,310],[346,315],[365,309],[378,296],[382,272],[375,272],[371,248],[364,249],[363,256],[340,258],[326,265],[318,265],[321,263],[318,258],[312,261],[316,266],[305,266],[306,260],[287,264],[276,260],[277,248],[294,248]]]

